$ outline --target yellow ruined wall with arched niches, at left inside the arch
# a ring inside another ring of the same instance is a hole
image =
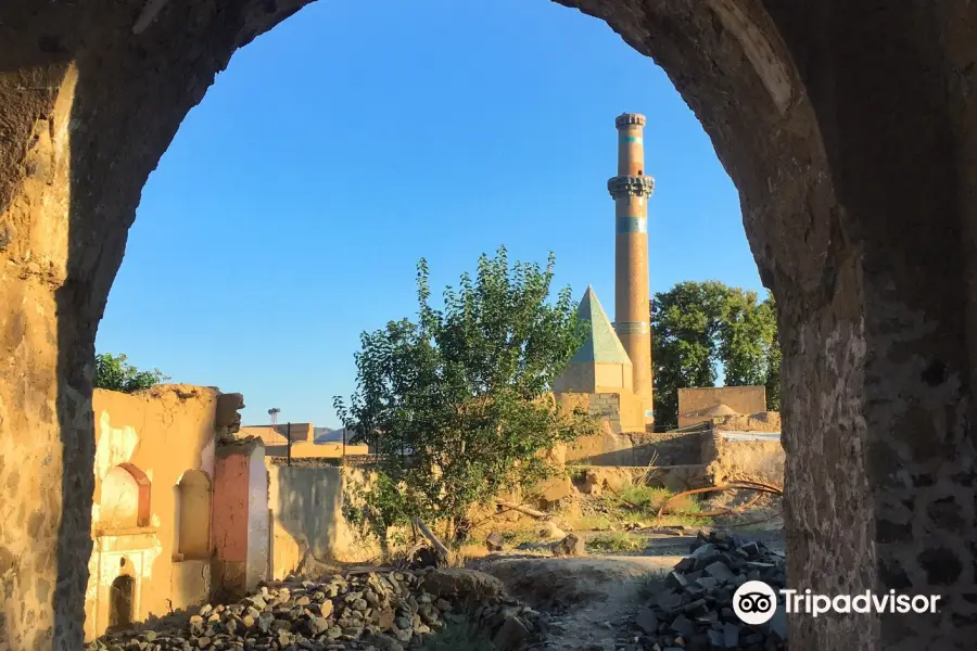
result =
[[[180,546],[181,538],[199,536],[200,531],[208,537],[210,508],[195,507],[210,498],[219,395],[188,385],[134,395],[94,391],[88,639],[119,616],[138,621],[207,599],[207,556],[185,558]],[[185,498],[195,506],[181,518]],[[131,612],[112,608],[113,584],[130,591]]]

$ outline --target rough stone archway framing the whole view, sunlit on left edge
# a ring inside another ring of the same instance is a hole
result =
[[[974,2],[562,2],[665,69],[739,191],[779,312],[789,582],[944,596],[935,616],[791,620],[795,649],[969,648]],[[0,7],[0,636],[13,651],[81,646],[96,331],[142,186],[233,52],[305,3]]]

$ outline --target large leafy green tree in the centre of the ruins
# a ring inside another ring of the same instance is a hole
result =
[[[419,516],[453,541],[469,507],[547,476],[540,452],[593,431],[548,395],[584,335],[569,288],[547,302],[553,267],[550,255],[545,271],[510,269],[500,247],[437,310],[421,260],[418,319],[361,335],[356,392],[334,405],[353,439],[377,448],[380,480],[366,501],[381,529]]]

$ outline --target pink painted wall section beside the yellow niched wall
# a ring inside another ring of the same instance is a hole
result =
[[[221,561],[248,561],[249,450],[219,449],[214,460],[214,547]]]

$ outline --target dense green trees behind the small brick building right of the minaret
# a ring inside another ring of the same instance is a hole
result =
[[[714,386],[720,369],[727,386],[766,386],[767,409],[781,408],[773,295],[686,281],[657,293],[650,309],[658,423],[676,424],[678,390]]]

